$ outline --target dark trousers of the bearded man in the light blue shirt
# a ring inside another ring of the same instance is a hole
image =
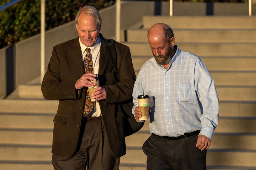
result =
[[[206,150],[196,147],[197,135],[168,140],[151,135],[143,144],[147,170],[205,170]]]

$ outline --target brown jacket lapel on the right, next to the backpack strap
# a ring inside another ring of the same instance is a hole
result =
[[[100,48],[100,61],[99,61],[99,75],[103,75],[104,71],[108,66],[108,57],[105,51],[105,39],[100,34],[101,37],[101,48]]]

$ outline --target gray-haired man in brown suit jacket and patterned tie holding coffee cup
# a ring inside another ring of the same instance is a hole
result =
[[[130,49],[115,43],[118,81],[99,33],[101,17],[97,9],[85,6],[75,22],[79,37],[54,46],[41,87],[45,99],[59,100],[53,120],[52,164],[55,170],[118,169],[126,150],[123,117],[117,103],[132,96],[135,82]],[[92,73],[85,68],[88,56]],[[85,114],[87,89],[94,87],[90,80],[95,80],[96,74],[100,77],[100,87],[93,94],[96,102]]]

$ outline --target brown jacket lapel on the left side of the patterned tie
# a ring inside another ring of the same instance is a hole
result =
[[[82,56],[81,56],[81,47],[79,44],[79,37],[77,37],[72,45],[72,49],[70,50],[69,56],[71,56],[71,59],[73,63],[75,64],[76,70],[80,76],[84,74],[84,65],[82,62]]]

